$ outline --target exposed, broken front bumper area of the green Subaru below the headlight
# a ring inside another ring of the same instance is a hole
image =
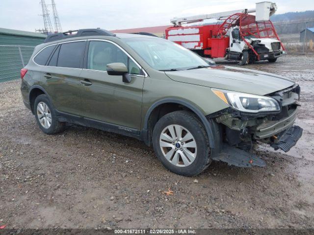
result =
[[[288,152],[303,131],[301,127],[293,125],[299,106],[296,103],[299,94],[298,85],[269,94],[280,102],[281,110],[277,113],[248,114],[228,108],[214,114],[214,117],[211,115],[210,118],[223,124],[221,132],[224,142],[221,153],[213,159],[241,167],[264,166],[264,162],[251,151],[257,142]]]

